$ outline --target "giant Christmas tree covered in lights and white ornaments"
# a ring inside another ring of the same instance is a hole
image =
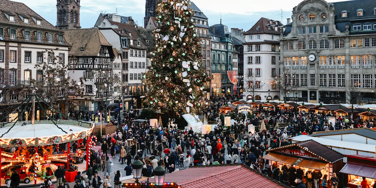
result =
[[[209,79],[199,60],[201,40],[190,19],[194,10],[188,6],[189,0],[162,0],[158,4],[152,66],[144,76],[149,90],[145,102],[177,115],[200,111],[202,89]]]

